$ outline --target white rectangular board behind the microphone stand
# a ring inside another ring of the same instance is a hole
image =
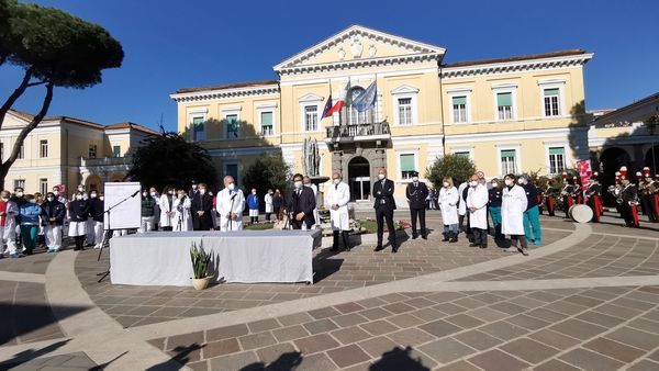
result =
[[[105,229],[139,228],[142,222],[142,195],[138,182],[108,182],[103,190]]]

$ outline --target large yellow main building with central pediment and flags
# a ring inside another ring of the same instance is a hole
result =
[[[273,67],[279,80],[180,89],[178,130],[210,150],[222,175],[281,153],[303,171],[305,138],[320,144],[321,175],[339,170],[366,201],[379,168],[404,184],[438,156],[469,156],[489,178],[558,173],[588,158],[583,65],[566,50],[444,64],[445,49],[353,25]],[[377,86],[375,106],[321,119],[332,93],[357,98]],[[584,142],[585,140],[585,142]],[[239,177],[238,177],[239,179]],[[239,182],[239,180],[238,180]],[[249,184],[245,184],[249,187]]]

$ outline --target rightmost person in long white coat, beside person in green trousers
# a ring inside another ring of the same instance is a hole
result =
[[[524,188],[516,184],[516,177],[509,173],[503,178],[505,187],[501,202],[501,233],[511,236],[507,252],[522,252],[528,256],[526,236],[524,235],[524,212],[528,200]],[[517,240],[521,247],[517,246]]]

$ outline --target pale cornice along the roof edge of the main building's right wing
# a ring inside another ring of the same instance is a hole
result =
[[[538,69],[577,67],[585,65],[593,57],[593,53],[584,53],[573,56],[501,61],[473,66],[445,67],[440,70],[440,78],[449,79],[505,72],[521,72]]]

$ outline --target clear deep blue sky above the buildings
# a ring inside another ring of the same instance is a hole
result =
[[[659,91],[659,1],[172,1],[46,0],[99,23],[123,66],[86,90],[56,89],[51,115],[176,128],[179,88],[276,79],[272,66],[350,24],[443,46],[444,61],[583,48],[587,109],[618,108]],[[338,7],[343,8],[339,9]],[[0,67],[2,101],[21,70]],[[14,106],[36,112],[43,88]]]

